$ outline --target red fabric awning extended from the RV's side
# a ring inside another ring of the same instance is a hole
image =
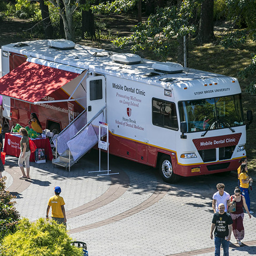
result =
[[[23,101],[40,101],[77,76],[77,73],[26,61],[0,78],[0,94]]]

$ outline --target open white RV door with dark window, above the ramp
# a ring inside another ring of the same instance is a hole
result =
[[[105,84],[104,76],[86,79],[88,122],[106,105]]]

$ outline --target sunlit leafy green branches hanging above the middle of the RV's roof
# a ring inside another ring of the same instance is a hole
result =
[[[195,33],[196,27],[191,24],[190,20],[193,16],[193,9],[197,7],[197,1],[184,0],[180,8],[176,5],[157,8],[156,13],[150,15],[147,21],[139,23],[132,29],[131,36],[118,38],[113,43],[119,47],[131,44],[133,52],[149,50],[158,58],[165,60],[169,53],[173,52],[170,45],[175,37],[178,36],[183,42],[183,36]],[[183,44],[180,43],[180,45]],[[180,50],[183,53],[182,47]]]

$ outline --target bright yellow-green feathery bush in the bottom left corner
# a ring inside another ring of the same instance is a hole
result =
[[[43,218],[31,223],[24,218],[19,222],[17,231],[3,239],[0,255],[82,256],[82,249],[72,246],[71,242],[63,225]]]

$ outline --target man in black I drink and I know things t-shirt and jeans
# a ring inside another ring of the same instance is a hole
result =
[[[225,205],[220,203],[218,206],[219,212],[214,213],[213,220],[211,221],[211,239],[213,239],[214,231],[214,244],[215,256],[220,256],[220,246],[223,247],[223,256],[229,256],[228,248],[232,231],[233,220],[231,216],[225,212]]]

